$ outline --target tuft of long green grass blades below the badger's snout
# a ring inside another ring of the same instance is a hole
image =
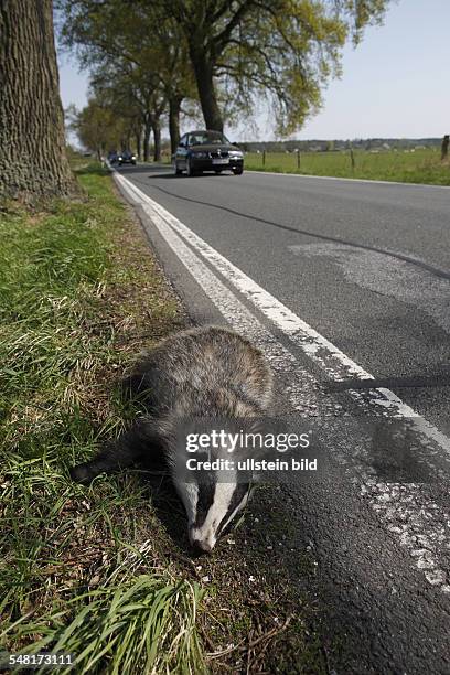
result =
[[[195,608],[202,593],[163,575],[116,579],[75,596],[65,608],[38,621],[18,621],[15,636],[34,639],[22,654],[53,652],[76,655],[77,673],[179,673],[202,671],[195,632]],[[35,641],[35,635],[42,635]],[[69,672],[71,668],[62,668]]]

